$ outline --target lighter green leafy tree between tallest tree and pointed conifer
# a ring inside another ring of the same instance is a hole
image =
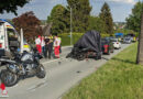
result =
[[[101,33],[105,32],[103,30],[103,21],[98,18],[98,16],[89,16],[89,25],[88,25],[88,30],[96,30],[99,31]]]

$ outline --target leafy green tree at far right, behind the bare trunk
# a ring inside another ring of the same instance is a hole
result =
[[[138,2],[132,9],[132,14],[127,18],[127,26],[135,32],[141,31],[141,12],[143,11],[143,2]]]

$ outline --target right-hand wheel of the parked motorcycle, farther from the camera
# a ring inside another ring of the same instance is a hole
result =
[[[46,76],[45,68],[42,64],[40,64],[36,70],[37,70],[36,77],[44,78]]]

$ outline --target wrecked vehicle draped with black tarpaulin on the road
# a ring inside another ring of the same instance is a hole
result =
[[[74,45],[66,58],[84,61],[85,58],[101,58],[101,37],[97,31],[88,31]]]

